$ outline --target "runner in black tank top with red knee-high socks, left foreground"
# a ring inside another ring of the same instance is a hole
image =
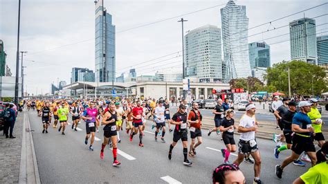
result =
[[[117,120],[117,113],[116,113],[116,107],[115,104],[109,104],[109,111],[104,113],[104,118],[102,118],[102,125],[104,126],[104,142],[102,142],[101,151],[100,151],[100,158],[104,159],[104,147],[109,142],[109,138],[111,138],[111,143],[113,146],[113,166],[119,166],[120,162],[117,160],[117,142],[118,137],[116,131],[117,126],[116,122]]]

